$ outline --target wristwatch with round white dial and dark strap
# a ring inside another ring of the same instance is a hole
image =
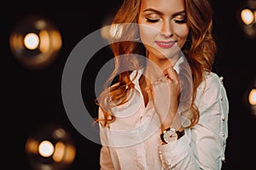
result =
[[[180,139],[184,135],[184,131],[177,131],[174,128],[166,128],[163,133],[160,134],[160,139],[166,143],[169,144],[173,141],[176,141],[177,139]]]

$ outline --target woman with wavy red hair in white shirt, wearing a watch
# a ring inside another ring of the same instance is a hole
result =
[[[116,67],[97,99],[101,169],[221,169],[229,105],[212,72],[211,4],[124,0],[112,28]]]

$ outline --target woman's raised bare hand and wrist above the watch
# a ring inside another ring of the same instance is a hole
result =
[[[179,119],[177,107],[181,88],[177,72],[172,67],[167,68],[163,73],[165,77],[154,82],[151,93],[153,94],[155,111],[160,117],[162,129],[165,129],[172,126],[172,123],[175,123],[173,121],[180,121],[177,120]]]

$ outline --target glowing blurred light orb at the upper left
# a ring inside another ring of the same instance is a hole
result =
[[[61,49],[61,33],[44,17],[30,16],[17,23],[9,36],[9,46],[16,59],[29,68],[49,65]]]

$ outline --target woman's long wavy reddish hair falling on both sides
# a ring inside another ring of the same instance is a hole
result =
[[[189,26],[189,37],[183,46],[183,54],[189,62],[193,76],[193,98],[190,106],[192,116],[189,117],[193,127],[199,120],[199,111],[195,105],[197,88],[204,79],[204,72],[212,70],[216,43],[212,37],[212,6],[208,0],[184,0]],[[134,54],[143,54],[146,49],[142,43],[133,41],[139,37],[137,25],[123,25],[125,23],[137,23],[141,0],[124,0],[117,14],[113,18],[112,26],[122,29],[119,40],[110,44],[115,57],[115,68],[105,83],[102,94],[96,99],[96,104],[103,111],[103,126],[114,122],[115,116],[111,109],[117,105],[123,105],[129,99],[129,90],[134,88],[130,78],[131,71],[143,67],[143,61],[137,59]],[[126,33],[125,33],[126,32]],[[129,41],[131,40],[131,41]],[[124,57],[119,57],[120,55]],[[122,68],[123,71],[120,71]],[[113,80],[116,82],[112,83]],[[112,83],[112,84],[111,84]],[[111,84],[111,85],[110,85]],[[113,104],[113,105],[111,105]]]

